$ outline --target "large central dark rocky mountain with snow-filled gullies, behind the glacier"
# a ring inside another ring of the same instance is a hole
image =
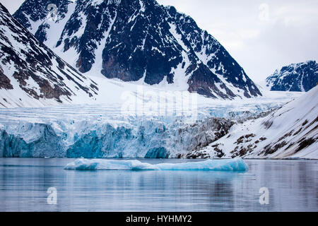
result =
[[[155,0],[26,0],[13,16],[81,73],[220,99],[261,95],[213,36]]]

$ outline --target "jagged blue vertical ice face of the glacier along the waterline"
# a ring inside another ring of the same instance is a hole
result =
[[[85,124],[84,122],[78,122]],[[9,134],[1,129],[3,157],[177,157],[199,145],[208,145],[227,133],[229,119],[206,119],[202,124],[155,119],[138,126],[110,123],[87,124],[90,131],[54,131],[53,125],[23,123]],[[66,125],[59,122],[59,126]],[[84,130],[88,129],[85,128]]]

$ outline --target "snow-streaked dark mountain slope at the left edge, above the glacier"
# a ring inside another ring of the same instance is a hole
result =
[[[0,105],[93,100],[97,84],[39,42],[0,4]]]

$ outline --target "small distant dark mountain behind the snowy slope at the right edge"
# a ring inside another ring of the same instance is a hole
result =
[[[307,92],[318,83],[316,61],[290,64],[266,78],[266,86],[275,91]]]

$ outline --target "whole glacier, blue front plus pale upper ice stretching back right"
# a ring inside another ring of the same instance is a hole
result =
[[[292,100],[198,100],[191,115],[138,115],[120,105],[60,105],[0,109],[0,157],[186,157],[228,133],[237,121]]]

